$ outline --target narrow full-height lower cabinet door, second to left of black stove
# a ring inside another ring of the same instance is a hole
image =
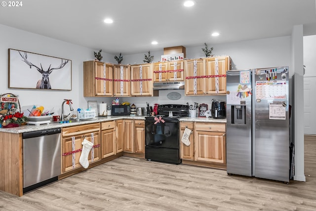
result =
[[[134,120],[124,120],[123,151],[134,152]]]

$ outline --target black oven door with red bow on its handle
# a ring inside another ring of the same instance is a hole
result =
[[[154,118],[145,120],[146,146],[179,149],[179,120],[155,123]]]

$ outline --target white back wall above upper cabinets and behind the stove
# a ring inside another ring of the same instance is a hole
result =
[[[279,37],[262,40],[252,40],[245,42],[231,42],[217,45],[210,45],[213,47],[212,53],[214,55],[229,55],[232,59],[232,69],[249,69],[249,68],[266,68],[276,66],[289,66],[291,69],[291,37]],[[186,48],[187,58],[201,58],[205,57],[201,48],[204,45],[197,47]],[[129,64],[141,64],[144,60],[145,53],[124,55],[124,62]],[[148,54],[146,52],[146,54]],[[163,55],[163,50],[153,51],[151,55],[154,55],[154,61],[158,62],[160,56]],[[181,94],[181,98],[176,102],[169,100],[166,95],[175,91]],[[211,100],[215,99],[226,99],[226,96],[185,96],[184,90],[160,90],[159,97],[142,97],[141,99],[124,97],[121,100],[130,101],[138,107],[145,107],[146,102],[151,105],[154,103],[166,104],[192,104],[197,102],[199,104],[208,104],[209,108]]]

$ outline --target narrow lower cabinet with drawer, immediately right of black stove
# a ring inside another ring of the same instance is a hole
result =
[[[190,145],[187,146],[185,145],[182,141],[181,138],[183,136],[185,128],[188,127],[189,129],[192,130],[191,135],[189,136],[189,141]],[[194,160],[194,134],[193,134],[193,122],[180,122],[180,143],[181,143],[181,159],[185,160]]]

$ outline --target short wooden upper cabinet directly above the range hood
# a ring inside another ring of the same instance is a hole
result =
[[[154,82],[183,81],[184,62],[178,60],[174,62],[154,63]]]

